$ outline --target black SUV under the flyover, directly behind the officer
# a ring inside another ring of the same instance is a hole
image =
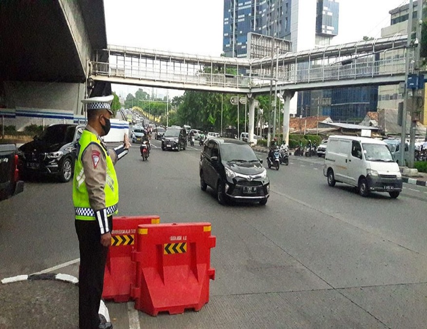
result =
[[[55,124],[47,127],[34,140],[18,149],[19,172],[52,174],[61,182],[73,176],[77,142],[84,125]]]

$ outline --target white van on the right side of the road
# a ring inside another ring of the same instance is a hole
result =
[[[362,196],[388,192],[392,198],[402,191],[402,174],[387,144],[356,136],[330,136],[323,174],[329,186],[336,182],[355,186]]]

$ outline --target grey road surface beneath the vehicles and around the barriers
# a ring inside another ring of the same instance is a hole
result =
[[[425,327],[426,188],[363,198],[330,188],[322,159],[291,156],[289,166],[267,169],[266,206],[221,206],[212,189],[200,190],[198,145],[162,152],[153,141],[147,162],[138,146],[116,166],[119,214],[211,222],[216,275],[199,312],[151,317],[132,303],[108,303],[116,329]],[[0,278],[78,258],[71,185],[27,182],[1,201]],[[76,275],[76,267],[56,272]]]

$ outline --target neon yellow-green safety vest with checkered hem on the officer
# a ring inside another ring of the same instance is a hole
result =
[[[105,156],[107,162],[107,173],[104,186],[105,207],[107,215],[117,213],[118,184],[113,161],[111,160],[111,157],[108,155],[107,151],[101,145],[97,135],[91,133],[88,130],[84,130],[78,141],[77,158],[75,162],[73,178],[73,203],[76,212],[76,219],[80,220],[95,220],[95,212],[92,209],[89,201],[83,164],[81,162],[81,156],[83,155],[83,152],[86,150],[89,144],[92,143],[99,145],[99,148],[103,151],[103,155]]]

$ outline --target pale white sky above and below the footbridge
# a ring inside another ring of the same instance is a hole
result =
[[[315,5],[315,0],[313,5]],[[379,38],[390,25],[388,11],[407,0],[339,0],[338,36],[332,43]],[[104,0],[107,42],[189,54],[222,53],[223,0]],[[138,87],[113,85],[119,94]],[[143,88],[149,91],[149,88]],[[170,90],[169,95],[182,95]],[[157,95],[166,94],[158,89]]]

